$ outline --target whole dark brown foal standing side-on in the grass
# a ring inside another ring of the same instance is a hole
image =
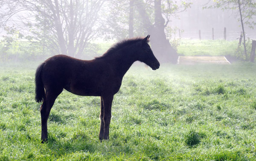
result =
[[[83,96],[100,96],[99,139],[109,139],[113,96],[119,91],[122,78],[131,65],[139,60],[153,70],[160,63],[145,38],[123,40],[99,58],[80,60],[56,55],[44,61],[35,73],[35,99],[41,106],[41,140],[47,140],[47,120],[55,99],[63,89]]]

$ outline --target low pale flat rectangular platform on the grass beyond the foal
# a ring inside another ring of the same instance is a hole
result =
[[[179,56],[177,64],[230,64],[224,56],[209,57],[209,56]]]

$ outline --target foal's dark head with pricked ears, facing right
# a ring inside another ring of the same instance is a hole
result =
[[[148,45],[150,35],[145,37],[141,42],[141,48],[138,51],[138,60],[150,66],[153,70],[159,68],[160,63],[154,56],[150,46]]]

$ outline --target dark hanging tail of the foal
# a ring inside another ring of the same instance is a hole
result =
[[[41,78],[41,71],[43,69],[44,63],[42,63],[35,72],[35,101],[42,102],[45,98],[44,84]]]

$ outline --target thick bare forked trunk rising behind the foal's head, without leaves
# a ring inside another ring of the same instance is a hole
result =
[[[137,9],[143,19],[143,26],[146,28],[149,35],[151,35],[151,48],[160,63],[172,62],[177,63],[177,52],[172,48],[169,40],[166,39],[164,29],[167,25],[162,16],[161,0],[154,0],[155,23],[151,24],[148,14],[145,11],[145,6],[142,1],[137,3]]]

